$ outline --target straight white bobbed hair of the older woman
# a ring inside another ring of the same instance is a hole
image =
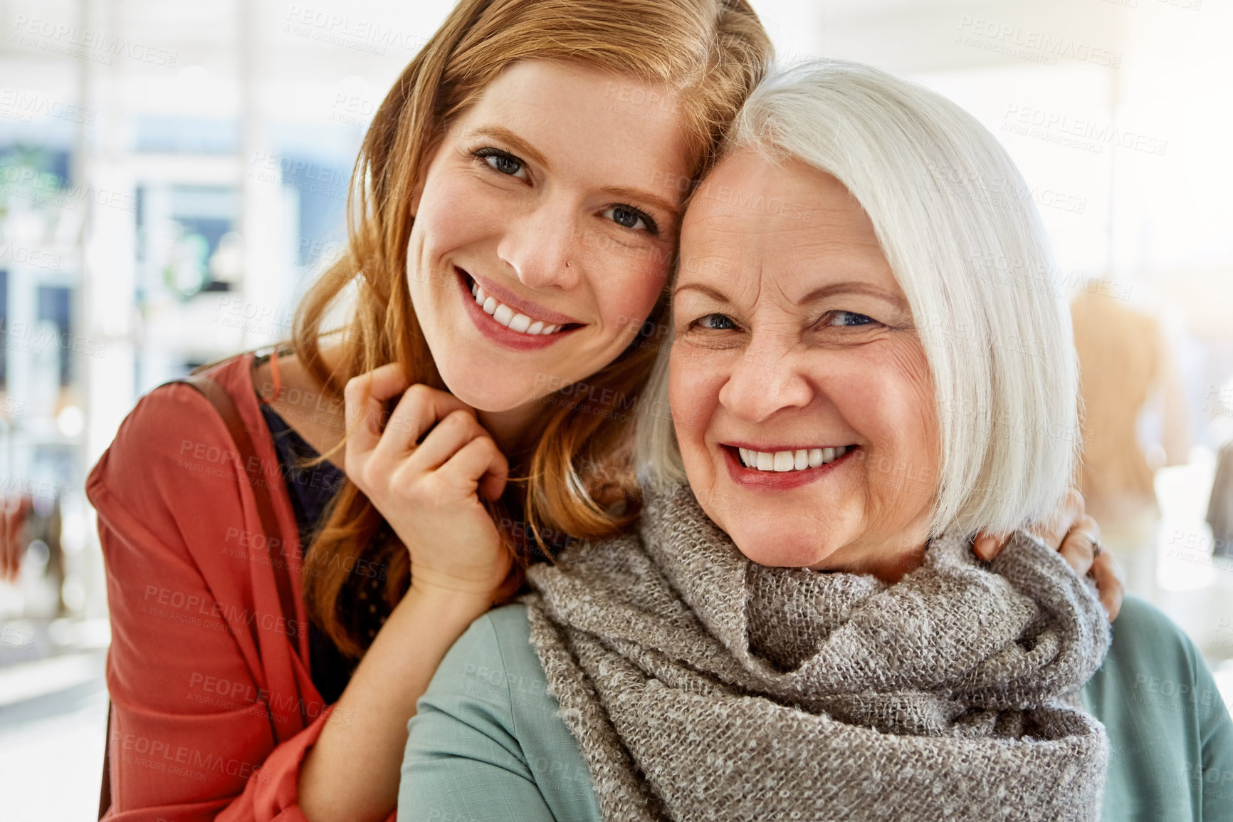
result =
[[[1052,513],[1075,468],[1079,367],[1039,214],[994,136],[921,85],[829,59],[764,79],[725,154],[737,149],[835,176],[873,223],[936,386],[932,532],[1004,531]],[[649,485],[686,479],[671,418],[649,411],[667,407],[668,348],[637,426]]]

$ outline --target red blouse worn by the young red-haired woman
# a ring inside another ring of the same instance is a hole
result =
[[[300,764],[346,721],[312,683],[300,538],[252,362],[208,374],[252,434],[280,534],[263,533],[227,427],[190,385],[138,400],[86,479],[111,612],[107,820],[305,820]],[[271,563],[287,564],[295,613]]]

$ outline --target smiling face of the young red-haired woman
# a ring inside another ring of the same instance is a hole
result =
[[[446,386],[480,411],[540,412],[545,386],[615,359],[660,296],[688,153],[671,109],[631,116],[612,86],[578,65],[506,69],[417,188],[412,302]]]

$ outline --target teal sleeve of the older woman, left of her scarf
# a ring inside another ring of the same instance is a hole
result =
[[[476,620],[450,648],[407,728],[402,822],[555,822],[514,727],[491,616]]]

